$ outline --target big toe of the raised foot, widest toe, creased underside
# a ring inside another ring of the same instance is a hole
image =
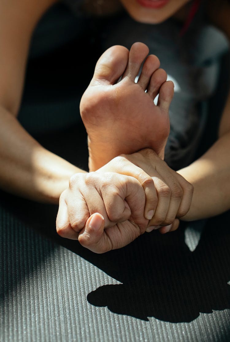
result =
[[[107,49],[99,58],[91,85],[114,84],[123,75],[128,63],[129,50],[115,45]]]

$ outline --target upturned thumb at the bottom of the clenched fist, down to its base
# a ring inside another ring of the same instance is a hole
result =
[[[78,241],[83,247],[95,253],[104,253],[113,248],[110,238],[104,231],[104,218],[99,213],[90,216],[78,236]]]

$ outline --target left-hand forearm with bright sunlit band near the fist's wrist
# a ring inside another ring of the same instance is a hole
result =
[[[85,172],[43,148],[0,107],[0,187],[42,202],[58,203],[69,178]]]

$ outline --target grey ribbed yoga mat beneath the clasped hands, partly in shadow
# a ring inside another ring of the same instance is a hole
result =
[[[97,255],[55,235],[56,208],[0,201],[1,341],[230,340],[225,217]]]

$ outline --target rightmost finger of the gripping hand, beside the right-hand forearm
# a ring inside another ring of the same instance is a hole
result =
[[[192,201],[192,195],[193,195],[193,186],[187,182],[182,175],[176,172],[176,177],[183,189],[183,197],[181,200],[181,204],[178,208],[176,217],[180,218],[187,214],[189,211],[191,201]]]

